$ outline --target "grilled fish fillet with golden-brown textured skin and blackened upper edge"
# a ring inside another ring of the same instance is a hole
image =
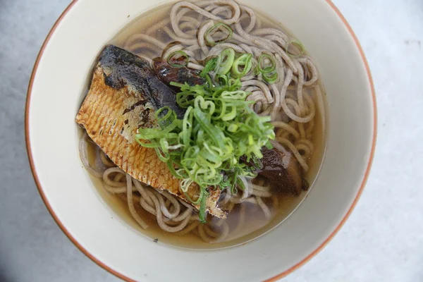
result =
[[[111,161],[130,176],[187,200],[179,190],[180,180],[172,176],[154,149],[142,147],[134,138],[137,128],[157,126],[154,111],[161,106],[169,106],[183,115],[175,94],[157,78],[147,60],[109,45],[99,55],[90,91],[75,120]],[[197,189],[192,185],[188,196],[195,198]],[[217,207],[220,190],[209,192],[209,213],[226,217]]]

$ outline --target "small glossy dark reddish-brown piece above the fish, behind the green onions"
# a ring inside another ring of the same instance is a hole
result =
[[[166,83],[166,85],[170,85],[171,82],[188,82],[188,84],[192,86],[202,85],[206,82],[204,78],[200,77],[199,71],[191,70],[185,66],[180,68],[171,66],[161,58],[154,59],[153,66],[154,71],[157,73],[157,77]],[[179,88],[176,88],[176,91],[178,90]]]

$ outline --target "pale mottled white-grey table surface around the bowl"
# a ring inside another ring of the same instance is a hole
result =
[[[54,223],[27,163],[27,82],[68,2],[0,0],[0,281],[118,281]],[[376,156],[345,226],[283,280],[423,281],[423,1],[333,2],[357,33],[374,76]]]

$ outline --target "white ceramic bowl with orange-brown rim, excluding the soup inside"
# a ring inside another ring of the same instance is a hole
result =
[[[330,120],[326,158],[306,200],[273,231],[238,247],[180,250],[140,236],[102,202],[78,157],[74,117],[94,59],[137,14],[165,0],[73,1],[39,52],[25,119],[35,182],[73,243],[125,280],[276,280],[319,252],[360,197],[374,152],[376,105],[353,31],[329,0],[242,1],[279,20],[305,44],[326,86]]]

